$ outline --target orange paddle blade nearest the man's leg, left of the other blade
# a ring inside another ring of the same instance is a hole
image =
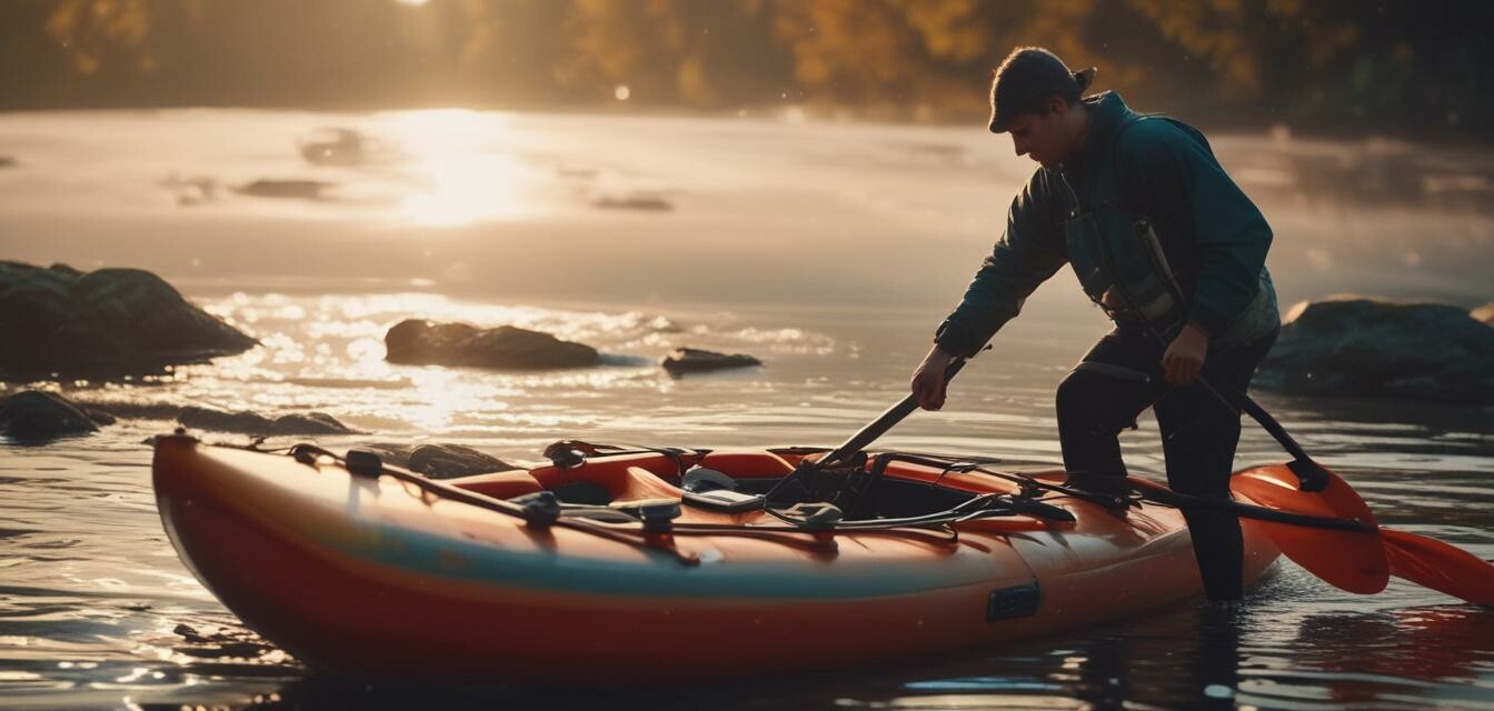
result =
[[[1246,469],[1234,475],[1230,488],[1262,506],[1295,514],[1357,518],[1374,524],[1364,499],[1337,474],[1322,469],[1328,484],[1322,491],[1301,491],[1286,465]],[[1351,593],[1373,594],[1389,583],[1389,562],[1380,536],[1370,532],[1310,529],[1282,523],[1264,526],[1282,554],[1328,584]]]

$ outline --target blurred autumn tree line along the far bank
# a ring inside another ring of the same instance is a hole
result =
[[[0,108],[793,105],[953,121],[986,111],[1011,48],[1041,45],[1144,111],[1484,139],[1491,19],[1478,0],[6,0]]]

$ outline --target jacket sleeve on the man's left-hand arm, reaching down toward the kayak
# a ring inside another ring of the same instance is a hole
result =
[[[934,342],[944,351],[973,357],[991,336],[1022,311],[1022,302],[1068,261],[1049,191],[1040,170],[1007,211],[1007,229],[959,306],[940,324]]]

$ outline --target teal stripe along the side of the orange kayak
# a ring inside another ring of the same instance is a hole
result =
[[[382,523],[368,526],[376,530],[379,545],[347,547],[335,545],[332,541],[321,544],[371,563],[420,575],[566,593],[846,599],[923,593],[989,580],[988,575],[982,575],[980,566],[959,565],[947,557],[937,565],[864,563],[856,568],[804,560],[738,563],[731,559],[684,566],[674,556],[647,548],[644,548],[647,560],[608,560],[515,551]],[[451,565],[453,556],[460,557],[465,565]]]

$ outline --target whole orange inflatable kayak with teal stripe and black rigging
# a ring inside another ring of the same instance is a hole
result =
[[[1200,596],[1182,514],[898,453],[599,448],[433,481],[366,451],[157,438],[161,521],[247,626],[335,674],[614,684],[850,668]],[[1243,472],[1242,472],[1243,474]],[[1138,485],[1144,485],[1138,482]],[[1249,499],[1245,499],[1249,500]],[[1242,520],[1246,581],[1279,556]],[[708,663],[701,663],[708,662]]]

